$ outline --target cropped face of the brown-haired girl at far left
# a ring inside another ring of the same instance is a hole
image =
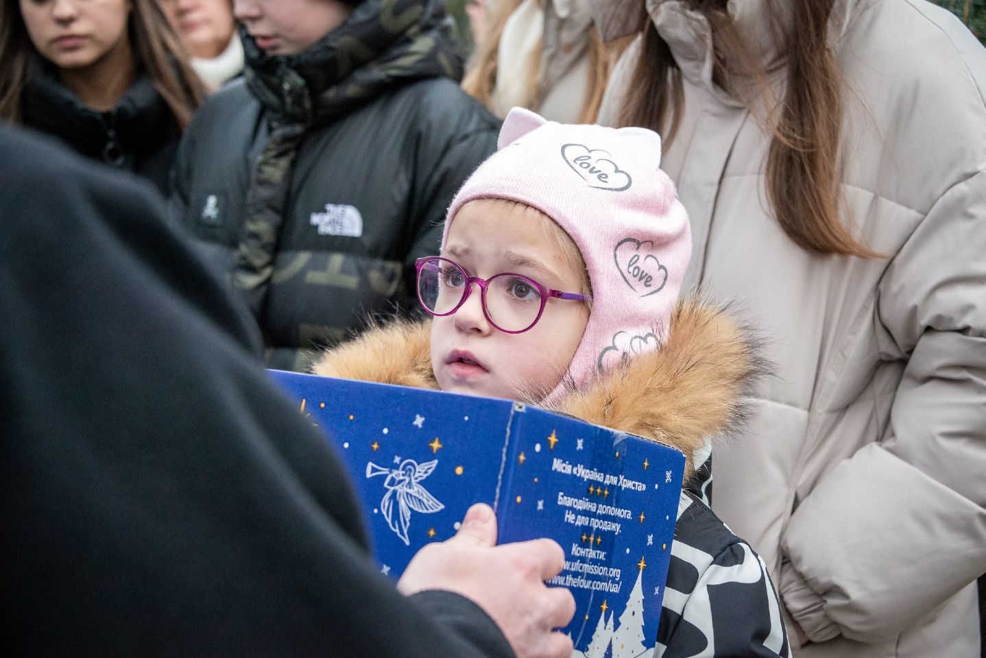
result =
[[[35,48],[60,69],[86,68],[127,42],[129,0],[20,0]]]

